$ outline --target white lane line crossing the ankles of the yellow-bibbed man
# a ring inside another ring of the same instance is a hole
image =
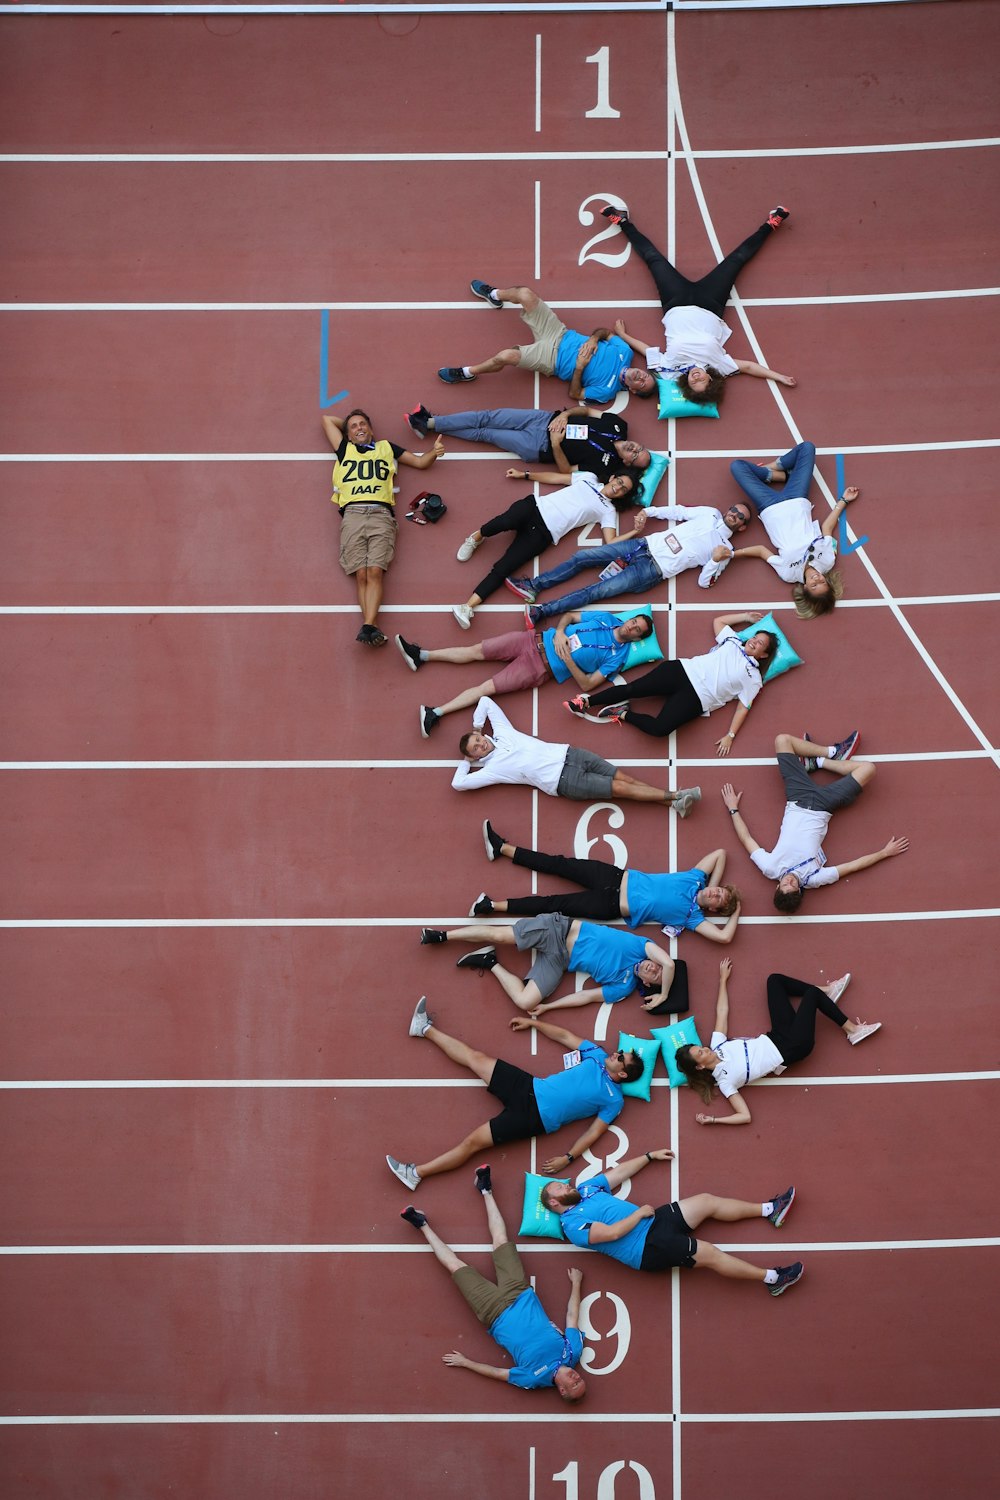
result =
[[[672,501],[673,504],[673,501]],[[718,600],[709,604],[697,602],[679,604],[667,596],[666,604],[649,600],[654,614],[718,614]],[[997,594],[909,594],[897,596],[897,604],[996,604]],[[891,600],[843,598],[838,609],[888,609]],[[741,604],[735,603],[733,610]],[[775,598],[763,606],[760,597],[747,600],[747,609],[792,610],[789,598]],[[519,614],[513,604],[480,604],[477,614]],[[357,604],[0,604],[0,615],[355,615]],[[450,604],[382,604],[382,615],[450,615]],[[873,759],[868,756],[867,759]],[[658,764],[658,762],[651,762]]]

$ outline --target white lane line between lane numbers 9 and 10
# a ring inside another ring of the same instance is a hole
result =
[[[0,1426],[399,1426],[403,1424],[463,1426],[667,1426],[693,1424],[784,1424],[784,1422],[927,1422],[997,1418],[1000,1407],[922,1407],[885,1412],[238,1412],[238,1413],[99,1413],[45,1416],[0,1416]]]

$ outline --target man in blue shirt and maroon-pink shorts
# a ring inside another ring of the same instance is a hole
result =
[[[499,698],[502,693],[517,693],[523,687],[541,687],[552,681],[573,681],[583,692],[598,687],[622,670],[633,640],[645,640],[651,634],[649,615],[622,620],[600,609],[586,614],[571,609],[555,628],[544,632],[510,630],[502,636],[489,636],[478,645],[433,650],[396,636],[396,646],[411,672],[418,672],[427,662],[450,662],[454,666],[472,662],[504,663],[486,682],[466,687],[447,704],[436,708],[421,704],[420,734],[427,740],[445,714],[474,708],[480,698]]]

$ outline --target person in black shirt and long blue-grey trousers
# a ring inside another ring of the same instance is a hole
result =
[[[561,474],[582,470],[603,482],[621,470],[649,468],[649,448],[628,436],[625,418],[592,406],[568,411],[498,406],[447,416],[417,406],[406,412],[406,422],[420,438],[435,432],[465,442],[489,442],[516,453],[525,464],[555,464]]]

